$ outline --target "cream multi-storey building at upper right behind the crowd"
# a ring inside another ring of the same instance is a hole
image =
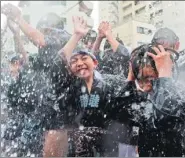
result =
[[[106,2],[106,3],[105,3]],[[180,38],[180,50],[184,49],[185,2],[183,1],[115,1],[118,18],[111,14],[113,1],[102,1],[99,6],[102,20],[113,22],[113,32],[132,48],[149,43],[153,33],[161,27],[169,27]],[[101,15],[102,14],[102,15]],[[117,21],[115,19],[118,19]],[[150,33],[140,33],[149,30]]]

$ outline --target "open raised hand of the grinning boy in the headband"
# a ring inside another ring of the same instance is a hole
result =
[[[84,20],[82,17],[74,16],[73,24],[74,24],[74,34],[83,37],[89,31],[89,28],[87,27],[87,21]]]

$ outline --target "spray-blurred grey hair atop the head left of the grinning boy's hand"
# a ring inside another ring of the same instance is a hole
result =
[[[55,13],[48,13],[43,16],[37,23],[37,29],[57,28],[64,29],[62,18]]]

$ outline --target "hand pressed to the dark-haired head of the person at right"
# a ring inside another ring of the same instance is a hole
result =
[[[149,52],[148,56],[152,57],[155,61],[159,77],[171,77],[173,62],[171,60],[170,53],[165,51],[163,46],[159,45],[158,47],[159,48],[153,48],[157,55]]]

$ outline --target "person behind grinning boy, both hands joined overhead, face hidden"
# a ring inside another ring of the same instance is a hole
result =
[[[108,22],[101,22],[98,30],[98,36],[93,46],[93,51],[99,61],[98,71],[102,74],[122,74],[126,78],[129,61],[128,49],[120,43],[121,41],[113,37],[112,28]],[[106,38],[106,42],[102,55],[99,48],[104,38]]]

